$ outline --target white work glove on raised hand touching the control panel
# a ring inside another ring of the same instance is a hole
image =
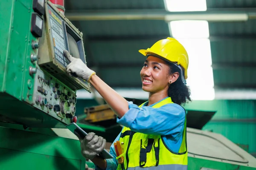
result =
[[[94,71],[88,68],[81,59],[72,57],[67,50],[64,50],[63,54],[64,57],[70,61],[70,63],[67,65],[67,73],[70,74],[70,76],[80,77],[89,82],[90,78],[96,74]]]

